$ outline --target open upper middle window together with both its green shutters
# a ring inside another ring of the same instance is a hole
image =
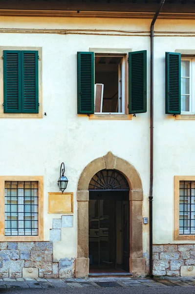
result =
[[[146,50],[126,54],[77,52],[77,70],[78,114],[147,111]]]

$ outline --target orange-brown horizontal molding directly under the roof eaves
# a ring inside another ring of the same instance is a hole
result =
[[[0,9],[1,16],[98,17],[152,19],[154,12]],[[195,19],[195,13],[161,12],[158,19]]]

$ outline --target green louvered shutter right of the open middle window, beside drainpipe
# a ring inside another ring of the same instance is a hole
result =
[[[147,51],[129,52],[129,113],[147,111]]]

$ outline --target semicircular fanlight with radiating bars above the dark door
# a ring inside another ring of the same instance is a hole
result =
[[[97,172],[90,180],[89,191],[125,190],[129,191],[129,184],[120,172],[115,170],[102,170]]]

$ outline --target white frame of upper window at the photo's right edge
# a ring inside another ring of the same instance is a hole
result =
[[[195,58],[183,57],[181,55],[181,61],[190,61],[190,83],[189,83],[189,111],[181,111],[181,115],[195,115],[195,84],[193,83],[193,79],[195,78]],[[182,77],[181,77],[182,78]],[[183,94],[181,94],[182,96]]]

